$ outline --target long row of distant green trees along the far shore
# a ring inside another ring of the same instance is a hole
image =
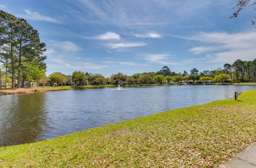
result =
[[[105,78],[102,74],[85,73],[75,71],[72,74],[73,83],[71,85],[138,85],[147,83],[163,83],[163,82],[255,82],[256,81],[256,59],[253,61],[237,60],[233,64],[224,64],[223,69],[205,70],[199,72],[196,68],[190,70],[188,74],[176,73],[170,71],[167,66],[164,66],[158,72],[135,73],[132,76],[127,76],[123,73],[112,74],[111,77]],[[54,72],[49,75],[49,81],[65,85],[67,77],[60,72]]]

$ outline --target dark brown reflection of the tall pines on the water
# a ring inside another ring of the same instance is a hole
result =
[[[45,94],[8,95],[0,101],[0,146],[43,139],[49,124]]]

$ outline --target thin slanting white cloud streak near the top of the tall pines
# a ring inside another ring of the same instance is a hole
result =
[[[60,23],[60,21],[58,21],[54,18],[51,18],[49,16],[41,15],[37,12],[32,12],[28,9],[25,9],[25,12],[27,13],[27,15],[24,15],[23,17],[31,19],[31,20],[41,20],[41,21],[49,21],[49,22],[53,22],[53,23]]]

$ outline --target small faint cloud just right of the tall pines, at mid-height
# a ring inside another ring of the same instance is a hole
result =
[[[51,41],[52,46],[61,49],[65,52],[75,52],[80,50],[80,48],[72,41]]]

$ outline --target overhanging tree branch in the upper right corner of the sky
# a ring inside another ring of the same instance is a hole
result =
[[[251,2],[251,3],[250,3]],[[234,17],[238,17],[239,13],[248,6],[254,6],[256,5],[256,1],[253,2],[253,0],[240,0],[238,2],[238,4],[236,6],[233,7],[233,9],[236,9],[236,11],[234,11],[233,15],[230,16],[230,18],[234,18]],[[252,7],[255,10],[255,7]],[[254,20],[251,20],[251,24],[255,24],[256,23],[256,17],[254,17]]]

